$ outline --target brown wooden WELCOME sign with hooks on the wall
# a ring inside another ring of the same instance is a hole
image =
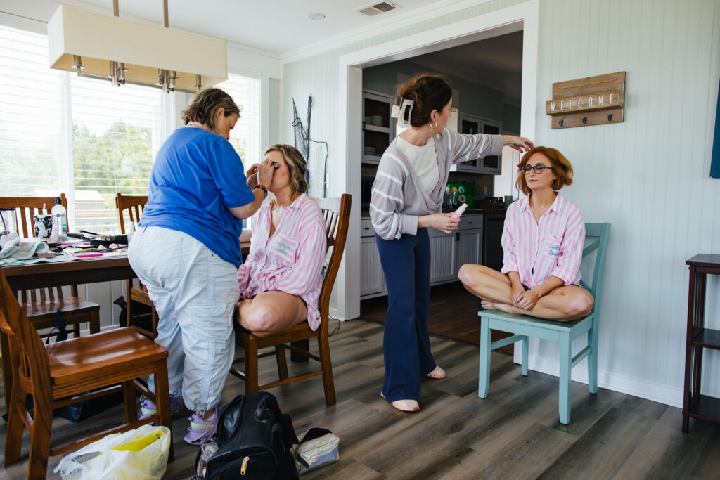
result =
[[[553,130],[624,122],[625,72],[553,83],[545,113]]]

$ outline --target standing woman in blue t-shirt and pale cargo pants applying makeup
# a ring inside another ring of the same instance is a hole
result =
[[[216,430],[235,352],[240,232],[267,196],[273,173],[265,161],[246,177],[228,142],[239,118],[240,109],[220,89],[194,96],[182,112],[186,127],[158,151],[148,204],[128,250],[158,312],[155,341],[168,349],[171,410],[194,411],[185,437],[194,445]],[[156,407],[145,399],[141,410],[147,417]]]

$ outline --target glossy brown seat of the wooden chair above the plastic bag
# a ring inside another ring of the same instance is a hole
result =
[[[132,328],[72,338],[48,345],[53,384],[65,384],[99,373],[128,370],[168,356],[168,350]]]

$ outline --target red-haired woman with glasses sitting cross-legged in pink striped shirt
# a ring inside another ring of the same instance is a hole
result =
[[[558,192],[572,184],[572,166],[554,148],[536,147],[518,168],[515,184],[527,197],[505,215],[502,271],[467,263],[458,276],[482,308],[550,320],[585,317],[595,302],[580,286],[585,223]]]

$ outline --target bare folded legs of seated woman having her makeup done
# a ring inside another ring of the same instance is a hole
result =
[[[294,327],[307,319],[300,296],[284,291],[265,291],[238,303],[237,322],[253,335],[266,337]]]

